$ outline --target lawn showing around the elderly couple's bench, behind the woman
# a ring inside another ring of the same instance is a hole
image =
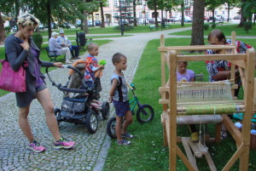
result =
[[[99,46],[101,46],[102,44],[111,42],[111,40],[94,40],[93,42],[97,43]],[[46,50],[45,50],[45,47],[47,47],[47,46],[48,46],[48,44],[42,44],[40,59],[44,60],[44,61],[49,61],[49,57],[48,57],[48,55],[46,53]],[[80,50],[80,55],[84,54],[85,52],[86,52],[85,49]],[[4,56],[4,48],[1,47],[0,48],[0,60],[3,60],[4,58],[5,58],[5,56]],[[57,58],[57,60],[62,62],[62,63],[65,63],[64,55],[59,56]],[[0,71],[1,71],[1,69],[2,69],[2,65],[0,65]],[[49,71],[52,71],[54,69],[55,69],[55,67],[49,68]],[[42,67],[41,71],[43,73],[45,73],[45,68]],[[0,97],[3,96],[4,94],[8,94],[8,93],[9,93],[8,91],[0,89]]]

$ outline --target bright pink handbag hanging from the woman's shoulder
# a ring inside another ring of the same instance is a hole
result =
[[[3,66],[0,73],[0,89],[15,93],[26,92],[26,71],[23,67],[26,67],[27,63],[24,62],[19,71],[14,71],[9,61],[0,60],[0,62]]]

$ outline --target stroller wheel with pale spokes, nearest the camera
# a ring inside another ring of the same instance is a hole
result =
[[[95,134],[98,128],[98,118],[95,111],[90,110],[85,119],[86,128],[91,134]]]

